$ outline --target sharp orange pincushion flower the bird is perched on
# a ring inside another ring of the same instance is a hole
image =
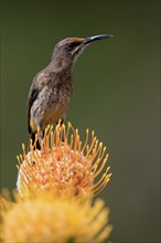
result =
[[[23,155],[18,157],[17,184],[22,197],[41,191],[65,197],[88,191],[96,194],[110,179],[109,167],[106,168],[106,147],[98,142],[94,131],[89,138],[89,131],[86,130],[86,141],[82,145],[77,129],[69,123],[67,128],[58,124],[54,133],[52,127],[47,127],[41,150],[34,150],[35,145],[31,141],[28,154],[23,145]],[[103,176],[97,179],[103,170]]]

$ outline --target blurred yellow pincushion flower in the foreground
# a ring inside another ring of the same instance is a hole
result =
[[[2,201],[1,201],[2,202]],[[3,242],[104,242],[110,234],[108,209],[103,200],[54,198],[51,192],[20,199],[3,199]],[[7,209],[4,209],[7,208]]]

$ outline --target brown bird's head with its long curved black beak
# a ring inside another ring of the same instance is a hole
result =
[[[53,52],[53,62],[58,65],[71,65],[74,64],[79,54],[88,46],[90,43],[103,40],[111,39],[110,34],[94,35],[89,38],[66,38],[60,41]]]

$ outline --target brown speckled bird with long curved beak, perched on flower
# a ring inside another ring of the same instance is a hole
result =
[[[40,128],[36,149],[41,149],[45,128],[65,120],[73,93],[73,68],[79,54],[90,43],[111,38],[110,34],[65,38],[55,45],[50,64],[35,75],[28,95],[28,130],[33,144]]]

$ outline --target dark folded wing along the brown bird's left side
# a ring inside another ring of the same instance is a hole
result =
[[[28,130],[30,134],[32,133],[31,126],[30,126],[30,110],[31,110],[31,107],[34,101],[37,97],[37,94],[39,94],[39,89],[34,86],[34,84],[32,84],[30,92],[29,92],[29,97],[28,97]]]

